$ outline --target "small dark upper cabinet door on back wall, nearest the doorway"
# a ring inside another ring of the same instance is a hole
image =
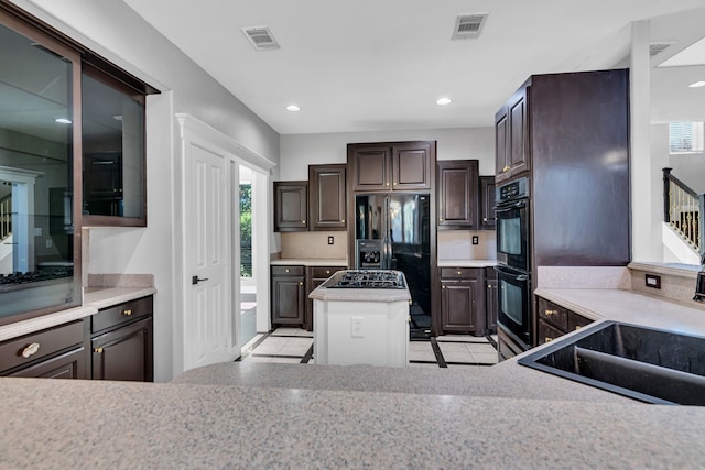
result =
[[[308,230],[308,182],[274,182],[274,231]]]

